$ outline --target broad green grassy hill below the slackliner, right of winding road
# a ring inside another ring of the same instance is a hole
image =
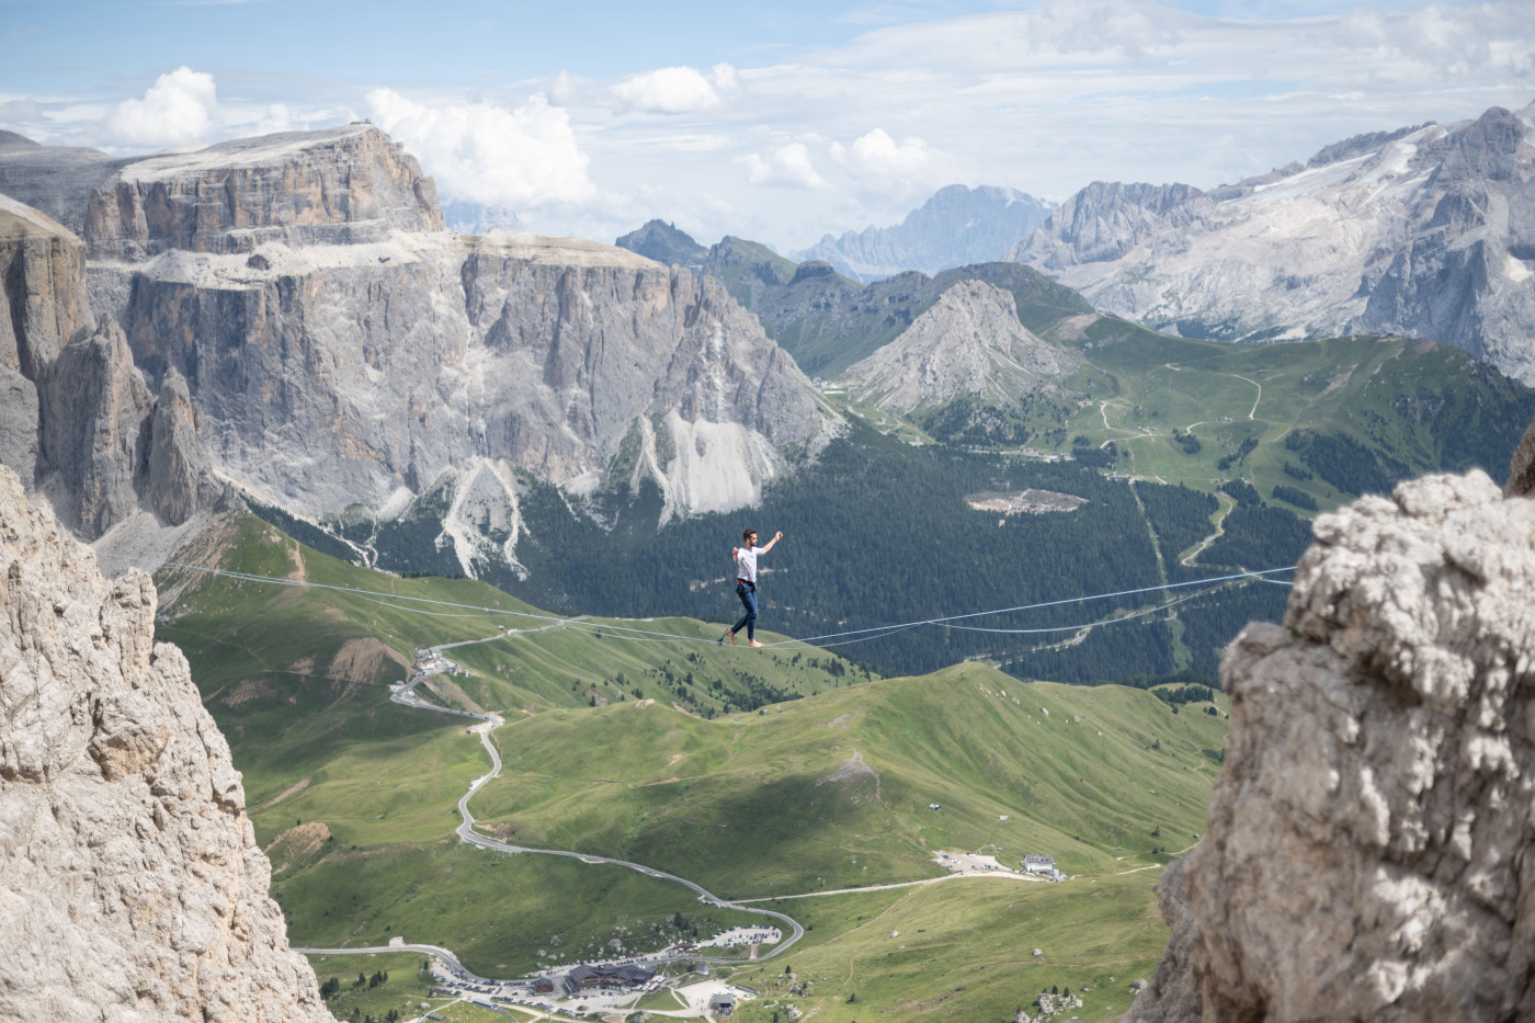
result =
[[[1150,693],[969,664],[738,723],[542,714],[497,733],[507,766],[476,816],[517,842],[635,859],[737,899],[933,877],[935,849],[990,845],[1078,872],[1113,863],[1116,846],[1148,863],[1153,846],[1188,845],[1217,771],[1202,751],[1223,734],[1223,717],[1173,714]],[[855,751],[869,771],[830,780]]]

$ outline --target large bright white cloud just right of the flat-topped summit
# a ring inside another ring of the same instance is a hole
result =
[[[375,89],[367,100],[373,123],[404,143],[447,197],[517,210],[596,197],[569,115],[542,95],[514,111],[427,106],[393,89]]]

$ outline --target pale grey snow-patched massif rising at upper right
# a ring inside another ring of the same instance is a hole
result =
[[[1494,108],[1211,192],[1096,183],[1008,258],[1162,330],[1428,336],[1535,382],[1532,127]]]

